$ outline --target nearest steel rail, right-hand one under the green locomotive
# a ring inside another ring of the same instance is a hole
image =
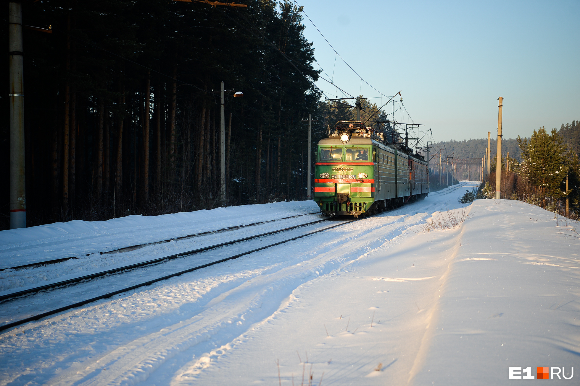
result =
[[[38,319],[42,319],[44,317],[48,317],[50,315],[57,314],[57,313],[60,313],[62,311],[67,311],[67,310],[70,310],[71,308],[81,307],[81,306],[84,306],[85,304],[92,303],[92,302],[96,302],[97,300],[107,299],[108,297],[117,295],[118,293],[132,291],[133,289],[136,289],[136,288],[139,288],[139,287],[142,287],[142,286],[146,286],[146,285],[151,285],[151,284],[154,284],[155,282],[158,282],[158,281],[167,280],[169,278],[176,277],[176,276],[179,276],[179,275],[183,275],[185,273],[190,273],[190,272],[193,272],[193,271],[196,271],[196,270],[205,268],[205,267],[209,267],[209,266],[213,266],[215,264],[223,263],[223,262],[226,262],[227,260],[237,259],[237,258],[240,258],[241,256],[249,255],[250,253],[253,253],[253,252],[262,251],[262,249],[275,247],[276,245],[280,245],[280,244],[284,244],[285,242],[297,240],[298,238],[310,236],[311,234],[319,233],[321,231],[325,231],[325,230],[328,230],[328,229],[332,229],[332,228],[335,228],[337,226],[342,226],[342,225],[351,223],[351,222],[356,221],[356,220],[357,219],[347,220],[347,221],[342,222],[340,224],[328,226],[328,227],[325,227],[323,229],[315,230],[315,231],[312,231],[312,232],[309,232],[309,233],[306,233],[306,234],[302,234],[300,236],[296,236],[296,237],[289,238],[288,240],[278,241],[278,242],[275,242],[274,244],[266,245],[265,247],[260,247],[260,248],[252,249],[252,251],[238,253],[237,255],[229,256],[228,258],[224,258],[224,259],[220,259],[220,260],[216,260],[215,262],[202,264],[201,266],[197,266],[197,267],[193,267],[193,268],[186,269],[186,270],[183,270],[183,271],[179,271],[177,273],[173,273],[173,274],[170,274],[170,275],[165,275],[164,277],[160,277],[160,278],[157,278],[157,279],[153,279],[153,280],[150,280],[150,281],[146,281],[144,283],[132,285],[130,287],[123,288],[123,289],[119,289],[119,290],[114,291],[114,292],[105,293],[105,294],[100,295],[100,296],[92,297],[91,299],[86,299],[86,300],[83,300],[82,302],[78,302],[78,303],[70,304],[68,306],[60,307],[60,308],[57,308],[56,310],[46,311],[45,313],[38,314],[38,315],[34,315],[34,316],[30,317],[30,318],[21,319],[19,321],[12,322],[12,323],[7,323],[5,325],[1,325],[0,326],[0,331],[9,329],[9,328],[12,328],[12,327],[15,327],[15,326],[19,326],[19,325],[24,324],[24,323],[27,323],[27,322],[32,322],[32,321],[35,321],[35,320],[38,320]]]

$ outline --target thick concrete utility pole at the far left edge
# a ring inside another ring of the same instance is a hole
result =
[[[24,169],[24,60],[22,5],[8,4],[10,67],[10,229],[26,228],[26,170]]]

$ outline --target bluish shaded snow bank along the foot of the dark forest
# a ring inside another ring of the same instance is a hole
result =
[[[131,215],[107,221],[73,220],[3,230],[0,231],[0,264],[10,267],[81,256],[318,211],[313,201],[292,201],[160,216]]]

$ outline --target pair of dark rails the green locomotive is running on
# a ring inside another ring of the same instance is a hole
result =
[[[300,225],[288,227],[288,228],[285,228],[285,229],[276,230],[276,231],[269,232],[269,233],[263,233],[263,234],[259,234],[259,235],[255,235],[255,236],[241,238],[241,239],[234,240],[234,241],[223,242],[223,243],[220,243],[220,244],[211,245],[209,247],[193,249],[191,251],[180,252],[180,253],[176,253],[174,255],[164,256],[162,258],[158,258],[158,259],[154,259],[154,260],[148,260],[147,262],[142,262],[142,263],[137,263],[137,264],[131,264],[130,266],[119,267],[118,269],[114,269],[114,270],[103,271],[103,272],[99,272],[99,273],[95,273],[95,274],[91,274],[91,275],[85,275],[84,277],[74,278],[74,279],[67,280],[67,281],[63,281],[63,282],[59,282],[59,283],[53,283],[53,284],[50,284],[50,285],[39,286],[37,288],[31,288],[31,289],[24,290],[24,291],[14,292],[14,293],[11,293],[11,294],[3,295],[2,297],[0,297],[0,300],[8,300],[10,298],[14,298],[14,297],[18,297],[18,296],[24,296],[24,295],[27,295],[27,294],[30,294],[30,293],[46,291],[47,289],[56,289],[56,288],[59,288],[59,287],[67,286],[69,284],[75,284],[75,283],[78,283],[78,282],[81,282],[81,281],[92,280],[92,279],[95,279],[97,277],[103,277],[105,275],[110,275],[110,274],[119,273],[119,272],[123,272],[123,271],[129,271],[129,270],[133,270],[133,269],[136,269],[136,268],[139,268],[139,267],[151,266],[153,264],[158,264],[158,263],[165,262],[165,261],[168,261],[168,260],[171,260],[171,259],[177,259],[177,258],[181,258],[181,257],[184,257],[184,256],[189,256],[189,255],[192,255],[192,254],[195,254],[195,253],[199,253],[199,252],[202,252],[202,251],[208,251],[209,249],[215,249],[215,248],[223,247],[225,245],[237,244],[237,243],[242,242],[242,241],[252,240],[252,239],[259,238],[259,237],[263,237],[263,236],[269,236],[271,234],[281,233],[283,231],[288,231],[288,230],[295,229],[295,228],[298,228],[298,227],[312,225],[314,223],[318,223],[318,222],[322,222],[322,221],[331,221],[331,220],[328,220],[328,219],[320,219],[320,220],[316,220],[316,221],[313,221],[313,222],[304,223],[304,224],[300,224]],[[181,271],[177,271],[176,273],[171,273],[171,274],[168,274],[168,275],[164,275],[162,277],[154,278],[153,280],[148,280],[148,281],[145,281],[145,282],[141,282],[139,284],[135,284],[135,285],[132,285],[132,286],[128,286],[126,288],[118,289],[116,291],[107,292],[107,293],[104,293],[102,295],[99,295],[99,296],[96,296],[96,297],[92,297],[90,299],[83,300],[81,302],[75,302],[73,304],[68,304],[67,306],[55,308],[53,310],[49,310],[49,311],[46,311],[44,313],[40,313],[40,314],[37,314],[37,315],[32,315],[31,317],[28,317],[28,318],[24,318],[24,319],[20,319],[18,321],[6,323],[6,324],[0,326],[0,331],[6,330],[6,329],[9,329],[9,328],[13,328],[15,326],[19,326],[19,325],[22,325],[22,324],[27,323],[27,322],[31,322],[31,321],[35,321],[35,320],[38,320],[38,319],[42,319],[44,317],[48,317],[50,315],[57,314],[57,313],[60,313],[60,312],[63,312],[63,311],[67,311],[67,310],[70,310],[71,308],[81,307],[81,306],[84,306],[85,304],[92,303],[92,302],[95,302],[97,300],[107,299],[108,297],[117,295],[119,293],[123,293],[123,292],[126,292],[126,291],[131,291],[133,289],[140,288],[142,286],[151,285],[151,284],[154,284],[155,282],[158,282],[158,281],[167,280],[167,279],[172,278],[172,277],[176,277],[176,276],[179,276],[179,275],[182,275],[182,274],[185,274],[185,273],[193,272],[195,270],[199,270],[199,269],[202,269],[202,268],[205,268],[205,267],[209,267],[209,266],[212,266],[212,265],[215,265],[215,264],[223,263],[223,262],[226,262],[228,260],[237,259],[237,258],[240,258],[241,256],[248,255],[249,253],[261,251],[262,249],[271,248],[271,247],[274,247],[276,245],[284,244],[285,242],[289,242],[289,241],[296,240],[298,238],[310,236],[311,234],[320,233],[322,231],[325,231],[325,230],[328,230],[328,229],[332,229],[334,227],[342,226],[342,225],[345,225],[345,224],[350,223],[350,222],[353,222],[353,221],[356,221],[356,219],[340,220],[338,224],[333,224],[331,226],[323,227],[322,229],[318,229],[318,230],[315,230],[315,231],[310,231],[310,232],[307,232],[307,233],[304,233],[304,234],[300,234],[299,236],[295,236],[295,237],[291,237],[291,238],[288,238],[288,239],[285,239],[285,240],[277,241],[277,242],[274,242],[273,244],[263,245],[263,246],[261,246],[259,248],[254,248],[254,249],[252,249],[250,251],[244,251],[244,252],[241,252],[241,253],[236,253],[235,255],[227,256],[226,258],[222,258],[222,259],[214,260],[212,262],[200,264],[198,266],[191,267],[191,268],[186,269],[186,270],[181,270]]]

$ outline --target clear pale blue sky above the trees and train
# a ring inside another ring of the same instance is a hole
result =
[[[500,96],[504,138],[580,119],[578,0],[297,1],[362,79],[385,95],[403,90],[409,115],[432,127],[435,141],[497,135]],[[321,75],[352,95],[380,97],[339,57],[335,64],[304,19]],[[346,96],[324,80],[318,87]],[[402,110],[395,117],[409,122]]]

